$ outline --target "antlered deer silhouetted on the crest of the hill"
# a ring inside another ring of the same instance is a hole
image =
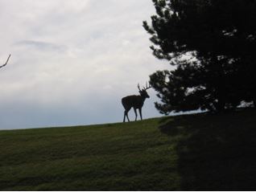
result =
[[[127,120],[130,122],[129,117],[128,117],[128,112],[130,111],[130,108],[134,108],[134,113],[135,113],[135,121],[137,121],[137,109],[139,112],[140,119],[142,120],[142,107],[144,104],[144,101],[147,98],[150,98],[150,96],[147,94],[147,89],[151,88],[151,85],[147,86],[146,83],[146,88],[143,87],[142,89],[139,87],[138,84],[138,92],[139,95],[132,95],[132,96],[125,96],[122,98],[122,106],[125,108],[124,112],[124,117],[123,117],[123,122],[126,122],[126,117]]]

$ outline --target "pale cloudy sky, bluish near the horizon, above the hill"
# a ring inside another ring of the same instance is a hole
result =
[[[171,67],[151,54],[152,14],[151,0],[0,0],[0,129],[122,122],[122,97]],[[143,118],[161,116],[147,92]]]

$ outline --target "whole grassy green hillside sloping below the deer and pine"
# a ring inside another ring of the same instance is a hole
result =
[[[0,190],[256,190],[256,111],[0,131]]]

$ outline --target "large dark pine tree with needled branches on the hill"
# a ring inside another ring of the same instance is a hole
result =
[[[256,102],[255,0],[153,2],[156,15],[143,27],[153,55],[175,66],[151,75],[160,112],[220,112],[242,100]]]

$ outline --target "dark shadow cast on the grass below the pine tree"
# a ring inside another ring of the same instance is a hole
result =
[[[256,111],[163,120],[177,137],[180,190],[256,190]]]

